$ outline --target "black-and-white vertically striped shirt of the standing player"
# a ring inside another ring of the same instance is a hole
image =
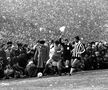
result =
[[[73,57],[80,57],[80,54],[84,52],[85,52],[84,45],[80,41],[78,43],[75,43],[73,49]]]

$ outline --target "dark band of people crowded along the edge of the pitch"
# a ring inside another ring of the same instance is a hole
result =
[[[72,75],[80,70],[108,68],[108,43],[84,44],[76,36],[73,42],[60,37],[29,47],[11,41],[0,44],[0,78],[37,77],[46,75]]]

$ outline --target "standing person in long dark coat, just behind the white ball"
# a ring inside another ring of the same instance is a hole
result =
[[[45,63],[48,60],[48,48],[44,45],[45,41],[40,41],[40,45],[37,46],[34,55],[34,61],[37,62],[38,72],[43,73]]]

